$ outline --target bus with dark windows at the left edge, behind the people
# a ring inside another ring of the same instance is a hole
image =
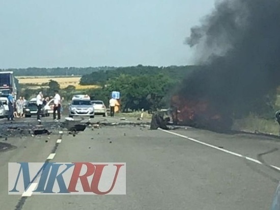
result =
[[[13,71],[0,71],[0,96],[7,97],[11,91],[17,99],[17,80]]]

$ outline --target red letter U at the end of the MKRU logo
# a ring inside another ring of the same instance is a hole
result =
[[[101,191],[98,190],[98,184],[99,184],[99,181],[100,181],[102,171],[103,171],[105,166],[107,166],[107,165],[95,165],[95,172],[94,172],[94,176],[93,176],[92,183],[91,183],[91,190],[92,190],[93,193],[98,194],[98,195],[108,194],[109,192],[111,192],[114,189],[115,184],[116,184],[116,180],[117,180],[117,177],[118,177],[118,174],[119,174],[119,171],[120,171],[120,168],[124,165],[123,164],[122,165],[118,165],[118,164],[114,165],[114,166],[117,166],[117,171],[115,173],[113,184],[111,185],[111,188],[107,192],[101,192]]]

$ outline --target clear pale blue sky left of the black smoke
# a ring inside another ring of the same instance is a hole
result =
[[[0,68],[187,65],[214,0],[0,0]]]

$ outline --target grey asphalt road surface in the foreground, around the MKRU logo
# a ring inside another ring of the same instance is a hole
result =
[[[103,126],[75,137],[65,132],[62,138],[25,136],[5,142],[16,146],[0,152],[0,202],[7,210],[263,210],[270,208],[280,179],[280,141],[253,135]],[[8,163],[45,162],[50,153],[55,153],[52,162],[126,163],[126,195],[8,195]]]

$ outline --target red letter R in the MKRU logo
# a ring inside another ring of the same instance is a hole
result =
[[[91,176],[95,172],[95,166],[91,163],[74,163],[74,164],[75,166],[68,186],[68,192],[78,192],[76,190],[78,179],[80,179],[81,181],[83,192],[92,192],[87,178],[88,176]],[[81,168],[83,165],[87,166],[87,172],[83,175],[80,175]]]

